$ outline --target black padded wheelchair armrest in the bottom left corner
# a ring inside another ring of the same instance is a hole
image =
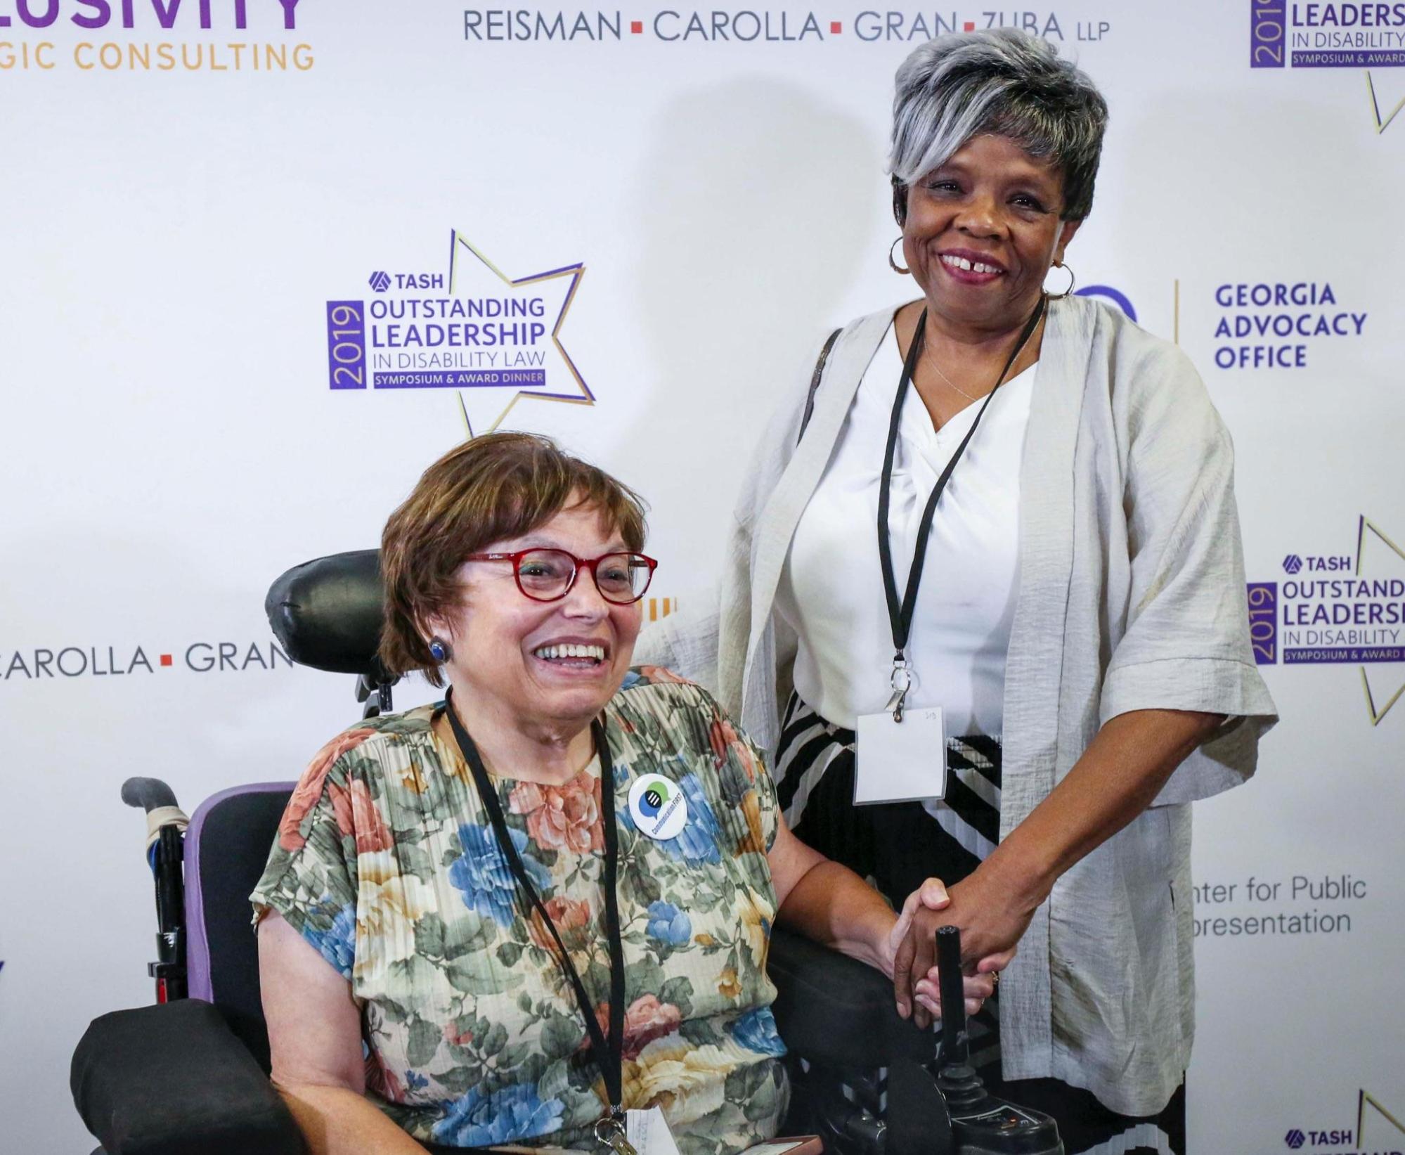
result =
[[[302,1155],[268,1076],[209,1003],[115,1010],[73,1052],[73,1104],[107,1155]]]

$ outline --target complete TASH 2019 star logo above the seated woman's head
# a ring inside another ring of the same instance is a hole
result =
[[[327,385],[466,389],[469,434],[496,429],[521,398],[594,405],[561,339],[584,273],[509,277],[454,229],[440,270],[377,270],[367,284],[379,296],[327,302]]]

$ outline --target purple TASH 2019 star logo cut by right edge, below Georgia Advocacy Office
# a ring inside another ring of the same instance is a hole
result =
[[[1249,583],[1255,660],[1272,665],[1354,665],[1366,711],[1380,725],[1405,694],[1394,674],[1381,683],[1367,667],[1405,662],[1405,549],[1364,514],[1354,554],[1288,554],[1288,580]],[[1397,672],[1398,673],[1398,672]]]

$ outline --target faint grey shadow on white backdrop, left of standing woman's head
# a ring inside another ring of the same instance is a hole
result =
[[[700,483],[731,509],[762,422],[808,372],[878,243],[881,146],[851,115],[769,77],[659,108],[632,181],[652,403],[627,444],[660,513]],[[707,423],[726,430],[724,444],[697,443],[702,409],[729,415]],[[697,531],[717,541],[722,524]]]

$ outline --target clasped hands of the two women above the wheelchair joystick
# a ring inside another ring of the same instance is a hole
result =
[[[975,1014],[991,998],[995,977],[1014,958],[1033,918],[1033,909],[1024,912],[1007,894],[991,889],[976,870],[950,889],[940,878],[929,878],[908,895],[888,936],[894,999],[903,1019],[912,1017],[926,1029],[941,1017],[936,965],[936,932],[941,926],[961,929],[967,1014]]]

